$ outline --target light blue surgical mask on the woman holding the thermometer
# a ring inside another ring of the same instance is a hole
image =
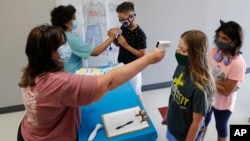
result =
[[[57,49],[57,52],[58,52],[58,54],[60,55],[59,61],[60,61],[60,62],[63,62],[63,63],[68,62],[68,61],[69,61],[69,58],[70,58],[70,56],[71,56],[71,54],[72,54],[71,48],[70,48],[70,46],[69,46],[68,43],[65,43],[65,44],[61,45],[61,46]]]

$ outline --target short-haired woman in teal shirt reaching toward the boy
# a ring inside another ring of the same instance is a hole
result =
[[[87,59],[89,56],[98,56],[105,51],[119,32],[119,28],[109,30],[109,38],[94,48],[72,33],[72,30],[77,27],[75,13],[76,9],[72,5],[58,6],[50,13],[51,23],[53,26],[59,26],[64,29],[67,42],[72,49],[69,61],[64,64],[64,70],[72,73],[75,73],[76,70],[82,67],[82,59]]]

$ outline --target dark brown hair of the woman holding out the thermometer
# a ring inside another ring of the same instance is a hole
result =
[[[23,69],[19,87],[35,86],[35,78],[47,72],[62,70],[52,58],[52,53],[66,40],[64,31],[59,27],[43,24],[34,27],[27,38],[25,53],[28,64]]]

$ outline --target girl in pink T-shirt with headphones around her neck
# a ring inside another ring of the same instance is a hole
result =
[[[218,141],[226,141],[228,121],[234,111],[238,84],[244,81],[246,72],[246,64],[241,56],[241,26],[234,21],[220,21],[220,26],[215,31],[214,43],[216,47],[210,51],[210,60],[216,79],[216,92],[212,110],[206,117],[206,126],[214,113]]]

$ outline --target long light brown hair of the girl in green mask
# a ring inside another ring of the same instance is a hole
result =
[[[188,59],[191,79],[203,92],[215,91],[215,81],[209,61],[209,45],[207,36],[199,30],[189,30],[181,35],[188,45]]]

